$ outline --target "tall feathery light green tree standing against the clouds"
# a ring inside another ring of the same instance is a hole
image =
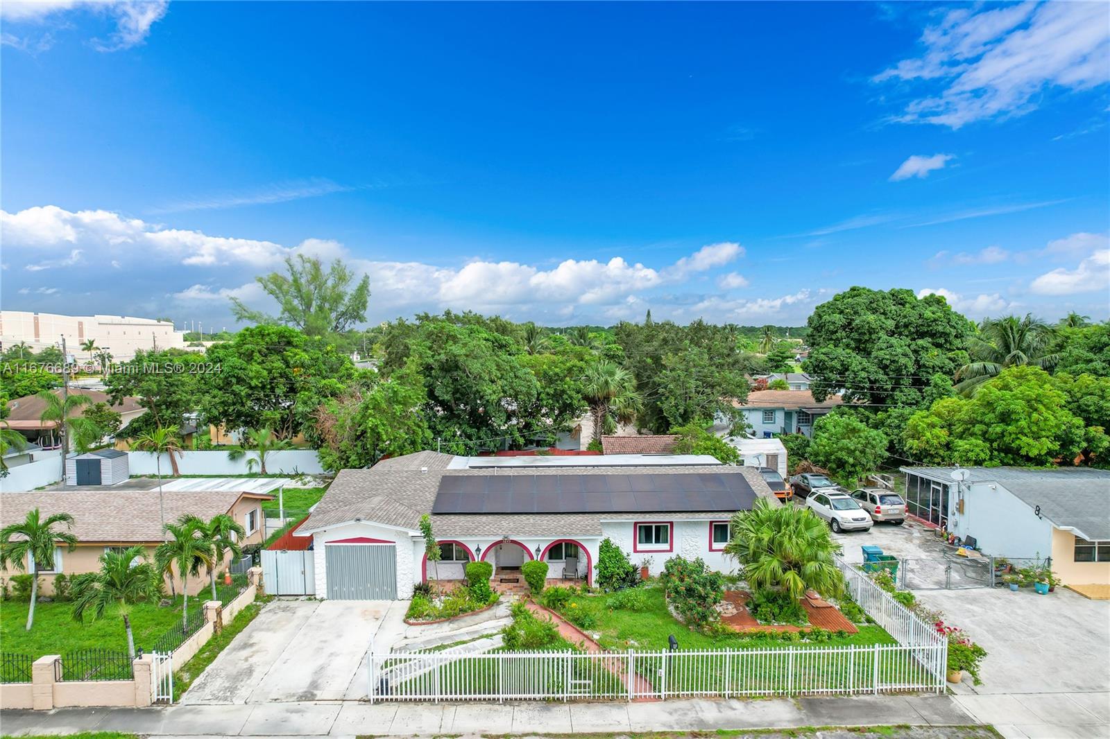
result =
[[[310,336],[339,334],[366,320],[370,276],[363,275],[357,283],[354,280],[355,273],[341,260],[325,269],[314,256],[286,256],[284,274],[255,277],[278,303],[276,317],[248,307],[238,297],[231,298],[232,310],[240,321],[284,323]]]

